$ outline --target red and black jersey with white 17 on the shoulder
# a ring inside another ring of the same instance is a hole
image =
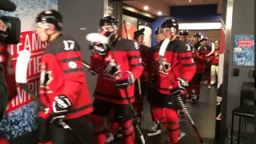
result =
[[[40,80],[40,99],[46,105],[62,94],[72,102],[65,119],[78,118],[93,111],[80,47],[73,39],[60,35],[50,42],[42,55]]]

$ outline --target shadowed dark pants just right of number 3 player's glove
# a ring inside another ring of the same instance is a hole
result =
[[[200,95],[200,90],[201,90],[201,81],[202,81],[202,75],[203,73],[196,73],[194,74],[194,77],[189,83],[189,87],[186,89],[186,92],[191,95],[191,94],[196,94]]]

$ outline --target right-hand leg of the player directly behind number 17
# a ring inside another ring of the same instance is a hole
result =
[[[129,105],[114,104],[114,119],[122,128],[122,138],[125,144],[134,144],[134,126]]]

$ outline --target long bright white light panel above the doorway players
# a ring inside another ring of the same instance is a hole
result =
[[[204,23],[179,23],[180,30],[220,30],[221,22],[204,22]]]

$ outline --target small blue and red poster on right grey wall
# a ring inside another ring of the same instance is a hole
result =
[[[234,35],[234,66],[254,66],[254,35]]]

